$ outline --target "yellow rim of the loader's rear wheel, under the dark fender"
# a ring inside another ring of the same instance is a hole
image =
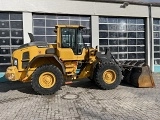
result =
[[[56,76],[53,73],[45,72],[39,77],[39,84],[43,88],[51,88],[56,83]]]

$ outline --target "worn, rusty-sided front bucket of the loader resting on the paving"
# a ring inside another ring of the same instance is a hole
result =
[[[141,67],[132,67],[130,71],[127,71],[127,76],[124,76],[124,80],[129,84],[132,84],[136,87],[155,87],[152,73],[148,65]]]

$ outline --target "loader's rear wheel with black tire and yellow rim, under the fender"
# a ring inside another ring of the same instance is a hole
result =
[[[63,74],[54,65],[38,67],[32,74],[32,88],[39,94],[50,95],[57,92],[63,84]]]

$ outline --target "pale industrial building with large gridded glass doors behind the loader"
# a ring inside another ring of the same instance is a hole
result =
[[[158,0],[1,0],[0,75],[11,65],[20,45],[36,41],[54,43],[57,24],[83,25],[84,41],[115,59],[146,62],[160,72],[160,2]]]

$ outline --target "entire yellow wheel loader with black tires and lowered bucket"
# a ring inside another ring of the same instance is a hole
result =
[[[101,89],[116,88],[124,79],[137,87],[154,87],[151,71],[138,62],[119,63],[109,48],[101,54],[98,48],[83,41],[84,27],[56,25],[55,43],[35,41],[21,45],[12,54],[12,66],[5,77],[10,81],[31,82],[39,94],[57,92],[67,81],[89,78]]]

